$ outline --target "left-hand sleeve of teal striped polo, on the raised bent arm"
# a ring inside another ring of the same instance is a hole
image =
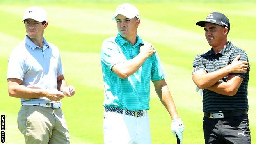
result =
[[[101,46],[101,62],[103,62],[108,69],[111,70],[112,66],[119,62],[124,62],[124,57],[119,46],[112,41],[103,41]]]

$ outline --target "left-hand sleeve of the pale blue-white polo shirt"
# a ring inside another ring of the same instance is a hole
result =
[[[23,80],[26,72],[26,64],[23,55],[18,54],[15,50],[8,59],[7,79],[16,78]]]

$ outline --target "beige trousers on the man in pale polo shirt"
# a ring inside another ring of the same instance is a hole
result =
[[[18,128],[26,144],[70,144],[61,108],[23,105],[18,112]]]

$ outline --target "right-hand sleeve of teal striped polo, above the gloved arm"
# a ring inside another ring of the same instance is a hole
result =
[[[165,70],[162,66],[158,53],[152,55],[152,69],[151,69],[151,80],[157,81],[162,80],[166,76]]]

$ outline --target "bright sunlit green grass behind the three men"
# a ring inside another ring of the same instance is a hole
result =
[[[191,78],[196,55],[210,49],[202,27],[195,25],[210,12],[224,13],[231,23],[228,40],[246,51],[251,71],[249,79],[249,124],[252,143],[256,140],[256,2],[255,0],[1,0],[0,1],[0,114],[5,115],[5,143],[24,144],[18,131],[18,98],[7,92],[7,59],[25,36],[21,22],[27,7],[46,9],[49,25],[45,38],[59,47],[65,78],[76,87],[72,98],[62,100],[72,144],[103,143],[103,80],[99,53],[104,39],[117,34],[111,21],[116,7],[124,2],[140,11],[138,34],[157,48],[167,71],[185,131],[183,144],[203,144],[202,97],[194,91]],[[153,85],[151,85],[153,86]],[[151,87],[150,124],[153,144],[175,144],[171,119]]]

